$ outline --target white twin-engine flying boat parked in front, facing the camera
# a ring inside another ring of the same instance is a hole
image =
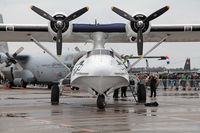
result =
[[[93,49],[75,63],[71,72],[71,85],[94,92],[97,106],[105,107],[107,94],[129,85],[129,74],[120,56],[115,51],[105,49],[105,43],[137,43],[138,55],[142,56],[143,42],[199,42],[199,25],[153,25],[151,21],[165,13],[165,6],[149,16],[134,16],[112,7],[111,10],[129,20],[127,24],[72,24],[71,21],[89,10],[84,7],[69,16],[62,13],[49,15],[38,7],[31,9],[49,20],[48,25],[41,24],[0,24],[0,41],[17,42],[52,42],[56,41],[57,55],[61,56],[62,42],[91,42]],[[114,14],[113,14],[114,15]],[[52,104],[59,103],[58,84],[53,85]]]

